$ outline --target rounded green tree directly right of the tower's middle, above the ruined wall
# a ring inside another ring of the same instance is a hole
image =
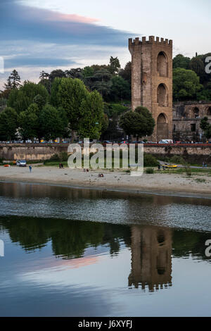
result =
[[[196,95],[203,86],[199,77],[192,70],[177,68],[173,70],[174,100],[196,99]]]

